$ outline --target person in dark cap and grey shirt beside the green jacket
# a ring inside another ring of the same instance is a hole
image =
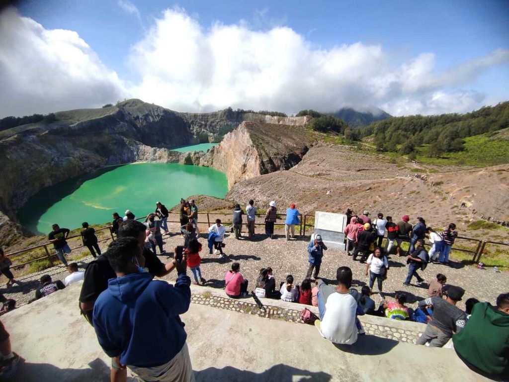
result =
[[[430,318],[426,330],[417,340],[417,345],[430,343],[430,347],[442,347],[461,331],[467,322],[467,315],[456,306],[461,301],[465,290],[458,286],[448,285],[445,290],[446,298],[429,297],[419,301],[419,308],[427,312],[428,306],[433,307],[433,319]]]

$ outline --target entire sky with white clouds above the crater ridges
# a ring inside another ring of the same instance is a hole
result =
[[[509,1],[30,0],[0,11],[0,117],[126,98],[181,112],[465,113],[509,100]]]

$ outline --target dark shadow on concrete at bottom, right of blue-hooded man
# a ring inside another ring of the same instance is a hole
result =
[[[204,370],[195,371],[194,378],[196,382],[210,381],[230,381],[230,382],[249,382],[249,381],[277,381],[277,382],[293,382],[293,381],[313,381],[326,382],[332,379],[332,376],[323,371],[302,370],[287,365],[275,365],[261,373],[255,373],[247,370],[239,370],[231,366],[217,369],[209,367]]]

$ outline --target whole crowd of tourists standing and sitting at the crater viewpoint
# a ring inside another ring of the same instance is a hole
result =
[[[245,213],[240,205],[235,206],[232,228],[237,239],[242,238],[244,214],[248,238],[253,237],[256,212],[257,207],[252,200]],[[294,204],[286,212],[285,237],[290,240],[295,236],[295,225],[300,224],[300,213]],[[462,311],[457,303],[462,300],[465,290],[447,284],[446,276],[439,273],[429,283],[428,297],[418,302],[415,310],[406,305],[408,294],[405,292],[397,291],[391,301],[383,295],[383,282],[390,268],[388,256],[393,250],[397,255],[405,256],[408,263],[408,275],[403,284],[409,285],[413,277],[422,283],[418,270],[425,269],[432,262],[448,263],[450,248],[457,237],[456,226],[451,223],[444,230],[435,231],[427,227],[422,217],[417,217],[412,226],[408,215],[402,216],[398,223],[393,223],[391,216],[384,218],[382,213],[378,213],[373,221],[369,211],[357,216],[349,209],[347,215],[349,224],[344,229],[347,254],[353,256],[353,260],[365,263],[363,272],[369,276],[368,285],[360,291],[354,288],[353,272],[347,266],[337,268],[337,286],[327,285],[319,276],[327,246],[320,234],[314,234],[307,243],[308,266],[302,281],[296,282],[293,275],[286,275],[277,284],[272,268],[262,268],[251,292],[256,299],[281,299],[318,307],[319,316],[312,321],[323,338],[340,347],[353,345],[358,336],[365,334],[358,318],[364,314],[426,323],[417,344],[454,347],[458,356],[473,370],[507,379],[509,293],[500,294],[496,305],[469,298],[465,304],[466,311]],[[202,243],[199,241],[198,216],[194,201],[182,199],[179,234],[183,244],[174,249],[172,259],[167,263],[157,257],[166,254],[162,235],[163,232],[169,233],[168,210],[160,202],[156,203],[156,210],[146,217],[144,223],[136,220],[130,210],[125,212],[124,217],[114,213],[111,232],[116,239],[108,245],[105,254],[101,253],[94,229],[84,222],[81,231],[83,245],[94,256],[84,272],[78,270],[76,263],[67,264],[65,261],[65,255],[71,252],[66,241],[70,231],[53,225],[48,239],[69,274],[64,282],[52,281],[49,275],[41,277],[36,298],[83,281],[79,296],[80,312],[93,325],[99,344],[111,357],[111,380],[126,380],[127,368],[141,380],[194,380],[186,344],[187,334],[180,315],[189,309],[191,299],[191,279],[187,276],[187,268],[191,271],[193,284],[206,283],[200,268]],[[272,201],[265,213],[265,234],[268,238],[274,238],[276,219],[276,203]],[[225,256],[226,231],[220,219],[209,227],[209,254]],[[425,248],[425,238],[431,243],[429,252]],[[408,249],[403,250],[402,243],[406,241]],[[8,266],[2,267],[3,256],[0,252],[0,270],[12,284],[16,280]],[[174,270],[177,272],[174,285],[153,280]],[[378,307],[371,298],[375,281],[381,297]],[[248,285],[248,280],[241,273],[241,264],[232,263],[224,275],[225,294],[231,298],[248,297]],[[9,335],[3,325],[0,326],[2,341],[5,342],[2,348],[6,349],[2,351],[5,364],[15,364],[19,357],[12,352]],[[487,352],[486,348],[492,351]]]

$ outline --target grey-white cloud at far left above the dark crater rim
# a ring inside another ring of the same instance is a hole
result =
[[[101,106],[124,96],[76,32],[46,30],[14,8],[0,14],[0,117]]]

